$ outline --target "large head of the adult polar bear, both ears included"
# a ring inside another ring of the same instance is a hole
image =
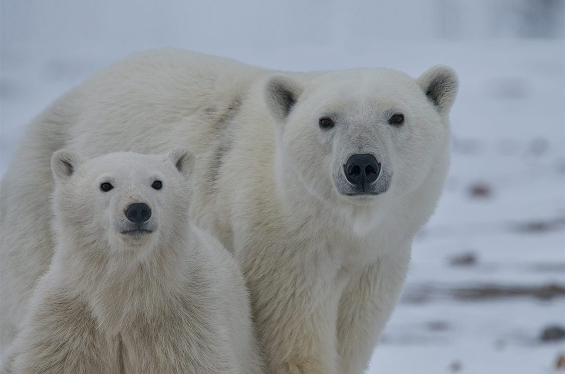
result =
[[[457,89],[453,69],[435,66],[416,80],[392,69],[276,74],[264,95],[296,180],[332,205],[371,206],[441,185]]]

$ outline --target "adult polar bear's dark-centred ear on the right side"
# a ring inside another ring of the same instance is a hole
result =
[[[444,65],[432,66],[416,82],[440,113],[449,112],[459,89],[459,78],[454,69]]]

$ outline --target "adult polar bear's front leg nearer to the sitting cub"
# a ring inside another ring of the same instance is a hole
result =
[[[312,270],[288,270],[247,277],[268,372],[337,374],[338,285]]]

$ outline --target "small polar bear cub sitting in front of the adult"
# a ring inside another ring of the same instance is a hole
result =
[[[53,261],[6,372],[262,372],[241,271],[189,221],[193,159],[55,152]]]

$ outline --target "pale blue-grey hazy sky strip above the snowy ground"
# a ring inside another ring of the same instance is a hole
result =
[[[563,36],[563,0],[2,0],[2,44],[340,45]],[[536,29],[543,28],[543,31]]]

